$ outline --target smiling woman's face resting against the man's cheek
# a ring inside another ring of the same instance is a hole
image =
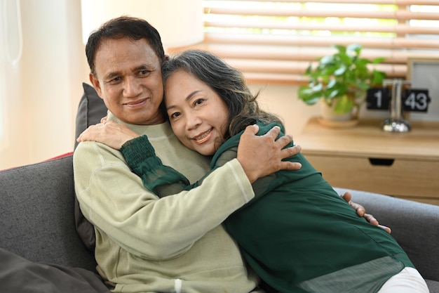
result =
[[[228,127],[229,110],[210,86],[177,70],[165,83],[165,103],[177,138],[191,150],[213,155]]]

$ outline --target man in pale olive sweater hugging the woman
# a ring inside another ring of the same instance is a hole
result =
[[[137,18],[110,20],[90,35],[86,54],[90,82],[111,112],[108,119],[146,134],[163,164],[190,181],[201,178],[210,159],[185,148],[160,109],[166,56],[154,27]],[[246,130],[238,158],[203,186],[161,199],[143,188],[119,151],[79,144],[76,196],[95,226],[97,271],[112,292],[256,292],[257,276],[221,223],[254,197],[251,182],[300,167],[281,161],[300,150],[281,150],[290,136],[274,141],[278,129],[266,136],[256,131]]]

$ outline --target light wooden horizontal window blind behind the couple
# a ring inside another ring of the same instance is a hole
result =
[[[204,0],[205,39],[191,48],[221,56],[249,82],[303,84],[311,62],[335,44],[363,45],[362,56],[389,78],[405,79],[407,58],[439,58],[439,0]]]

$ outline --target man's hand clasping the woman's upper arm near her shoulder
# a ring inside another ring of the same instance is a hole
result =
[[[276,141],[281,132],[278,126],[263,136],[256,135],[258,130],[257,125],[247,126],[238,145],[237,158],[250,182],[279,170],[297,170],[302,167],[297,162],[282,161],[302,150],[299,145],[283,149],[292,141],[292,136],[285,135]]]

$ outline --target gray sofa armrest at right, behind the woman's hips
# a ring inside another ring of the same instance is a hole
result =
[[[339,194],[346,189],[335,188]],[[365,207],[407,252],[419,273],[439,281],[439,206],[377,193],[348,190],[352,201]]]

